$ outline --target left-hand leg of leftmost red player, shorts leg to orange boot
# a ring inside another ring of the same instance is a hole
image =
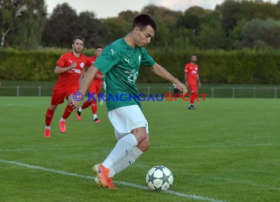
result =
[[[51,105],[50,107],[48,107],[46,112],[46,118],[45,118],[46,126],[44,130],[44,137],[51,137],[51,122],[53,120],[57,105],[63,103],[63,100],[64,100],[63,92],[54,88]]]

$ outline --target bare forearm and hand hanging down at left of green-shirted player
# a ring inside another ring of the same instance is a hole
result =
[[[94,76],[98,73],[98,69],[95,66],[91,66],[89,68],[89,70],[87,70],[87,72],[84,75],[84,78],[82,80],[82,83],[80,85],[80,89],[79,92],[83,94],[85,94],[86,90],[88,89],[90,83],[92,82]],[[70,101],[70,106],[72,108],[77,108],[80,105],[81,101],[75,101],[74,99],[72,99]]]

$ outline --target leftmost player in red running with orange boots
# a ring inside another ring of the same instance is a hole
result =
[[[89,65],[88,58],[82,54],[84,39],[75,37],[72,42],[72,51],[64,53],[56,62],[55,73],[60,74],[53,89],[51,105],[46,113],[46,127],[44,137],[51,137],[51,122],[58,104],[63,103],[64,98],[69,100],[74,93],[78,92],[80,82],[84,76],[84,67]],[[60,132],[66,131],[65,120],[70,116],[73,109],[67,104],[65,111],[59,120]]]

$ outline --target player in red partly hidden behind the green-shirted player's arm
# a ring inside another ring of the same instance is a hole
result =
[[[97,46],[95,47],[95,56],[91,56],[88,57],[89,58],[89,62],[90,64],[93,64],[94,61],[96,60],[97,57],[99,57],[99,55],[103,52],[103,46]],[[101,122],[98,118],[97,118],[97,101],[98,101],[98,94],[100,92],[101,86],[102,86],[102,82],[103,82],[103,78],[105,75],[102,75],[100,72],[98,72],[96,74],[96,76],[94,77],[93,81],[91,82],[90,86],[88,87],[88,92],[90,94],[96,93],[94,94],[94,100],[91,101],[85,101],[84,104],[79,107],[78,109],[78,113],[77,113],[77,118],[79,121],[82,120],[82,116],[81,113],[83,111],[83,109],[89,107],[91,105],[91,111],[93,114],[93,120],[95,123],[99,123]]]

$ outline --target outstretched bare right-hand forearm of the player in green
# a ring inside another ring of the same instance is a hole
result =
[[[163,68],[158,63],[155,63],[150,68],[156,75],[161,76],[162,78],[165,78],[166,80],[174,83],[180,91],[183,91],[183,94],[186,94],[188,92],[187,87],[183,83],[181,83],[177,78],[172,76],[165,68]]]

